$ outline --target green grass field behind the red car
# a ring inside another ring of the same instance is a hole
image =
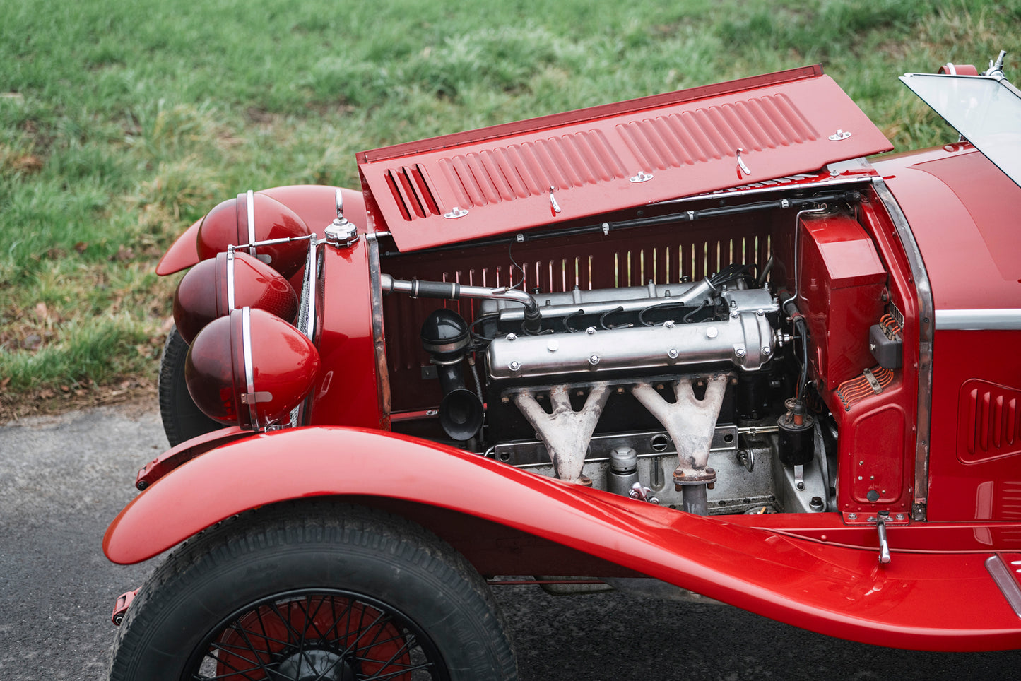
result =
[[[0,416],[151,385],[177,283],[155,262],[246,189],[351,186],[361,149],[815,62],[908,149],[955,136],[897,75],[1021,59],[1018,0],[0,0]]]

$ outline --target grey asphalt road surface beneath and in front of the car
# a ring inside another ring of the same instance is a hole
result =
[[[102,534],[165,447],[158,416],[137,405],[0,426],[0,680],[106,678],[113,599],[153,566],[108,563]],[[893,650],[621,593],[496,597],[525,681],[1021,678],[1021,651]]]

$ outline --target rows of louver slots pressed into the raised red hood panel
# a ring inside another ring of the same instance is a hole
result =
[[[645,173],[679,168],[818,139],[812,125],[782,95],[758,97],[618,124],[610,137],[597,129],[454,154],[437,165],[461,208],[540,196],[628,177],[627,149]],[[631,163],[634,164],[633,161]],[[387,172],[404,220],[440,214],[425,168]]]

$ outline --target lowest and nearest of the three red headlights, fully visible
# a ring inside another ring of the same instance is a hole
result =
[[[259,429],[288,423],[319,367],[319,351],[301,332],[270,312],[243,307],[195,336],[185,382],[210,419]]]

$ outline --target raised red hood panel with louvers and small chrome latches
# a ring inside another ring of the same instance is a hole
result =
[[[383,147],[357,160],[377,229],[409,251],[891,148],[840,87],[810,66]]]

